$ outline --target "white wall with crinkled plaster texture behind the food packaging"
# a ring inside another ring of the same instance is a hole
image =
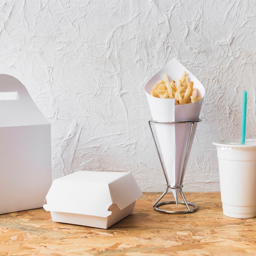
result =
[[[2,0],[0,73],[19,79],[52,124],[53,178],[131,172],[163,191],[144,85],[177,58],[206,95],[184,191],[219,191],[212,141],[255,137],[256,4],[251,0]]]

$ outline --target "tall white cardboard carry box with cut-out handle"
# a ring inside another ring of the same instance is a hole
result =
[[[0,74],[0,214],[43,207],[52,184],[51,126],[13,76]],[[7,97],[8,98],[8,97]]]

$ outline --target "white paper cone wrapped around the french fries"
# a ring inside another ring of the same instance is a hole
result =
[[[161,99],[153,97],[150,92],[159,80],[163,80],[163,74],[167,73],[170,80],[180,78],[184,70],[189,77],[189,81],[194,82],[194,87],[198,89],[198,95],[202,99],[195,103],[175,105],[174,99]],[[153,76],[145,86],[146,97],[152,115],[155,121],[192,121],[198,120],[202,102],[204,98],[204,87],[179,61],[173,58],[166,66]],[[194,123],[191,142],[188,152],[191,150],[193,138],[195,135],[197,123]],[[162,153],[162,162],[165,166],[168,182],[171,187],[180,186],[184,160],[186,157],[186,148],[189,141],[191,124],[159,124],[155,123],[155,131]],[[185,166],[186,168],[186,166]],[[177,204],[180,189],[172,189],[173,196]]]

